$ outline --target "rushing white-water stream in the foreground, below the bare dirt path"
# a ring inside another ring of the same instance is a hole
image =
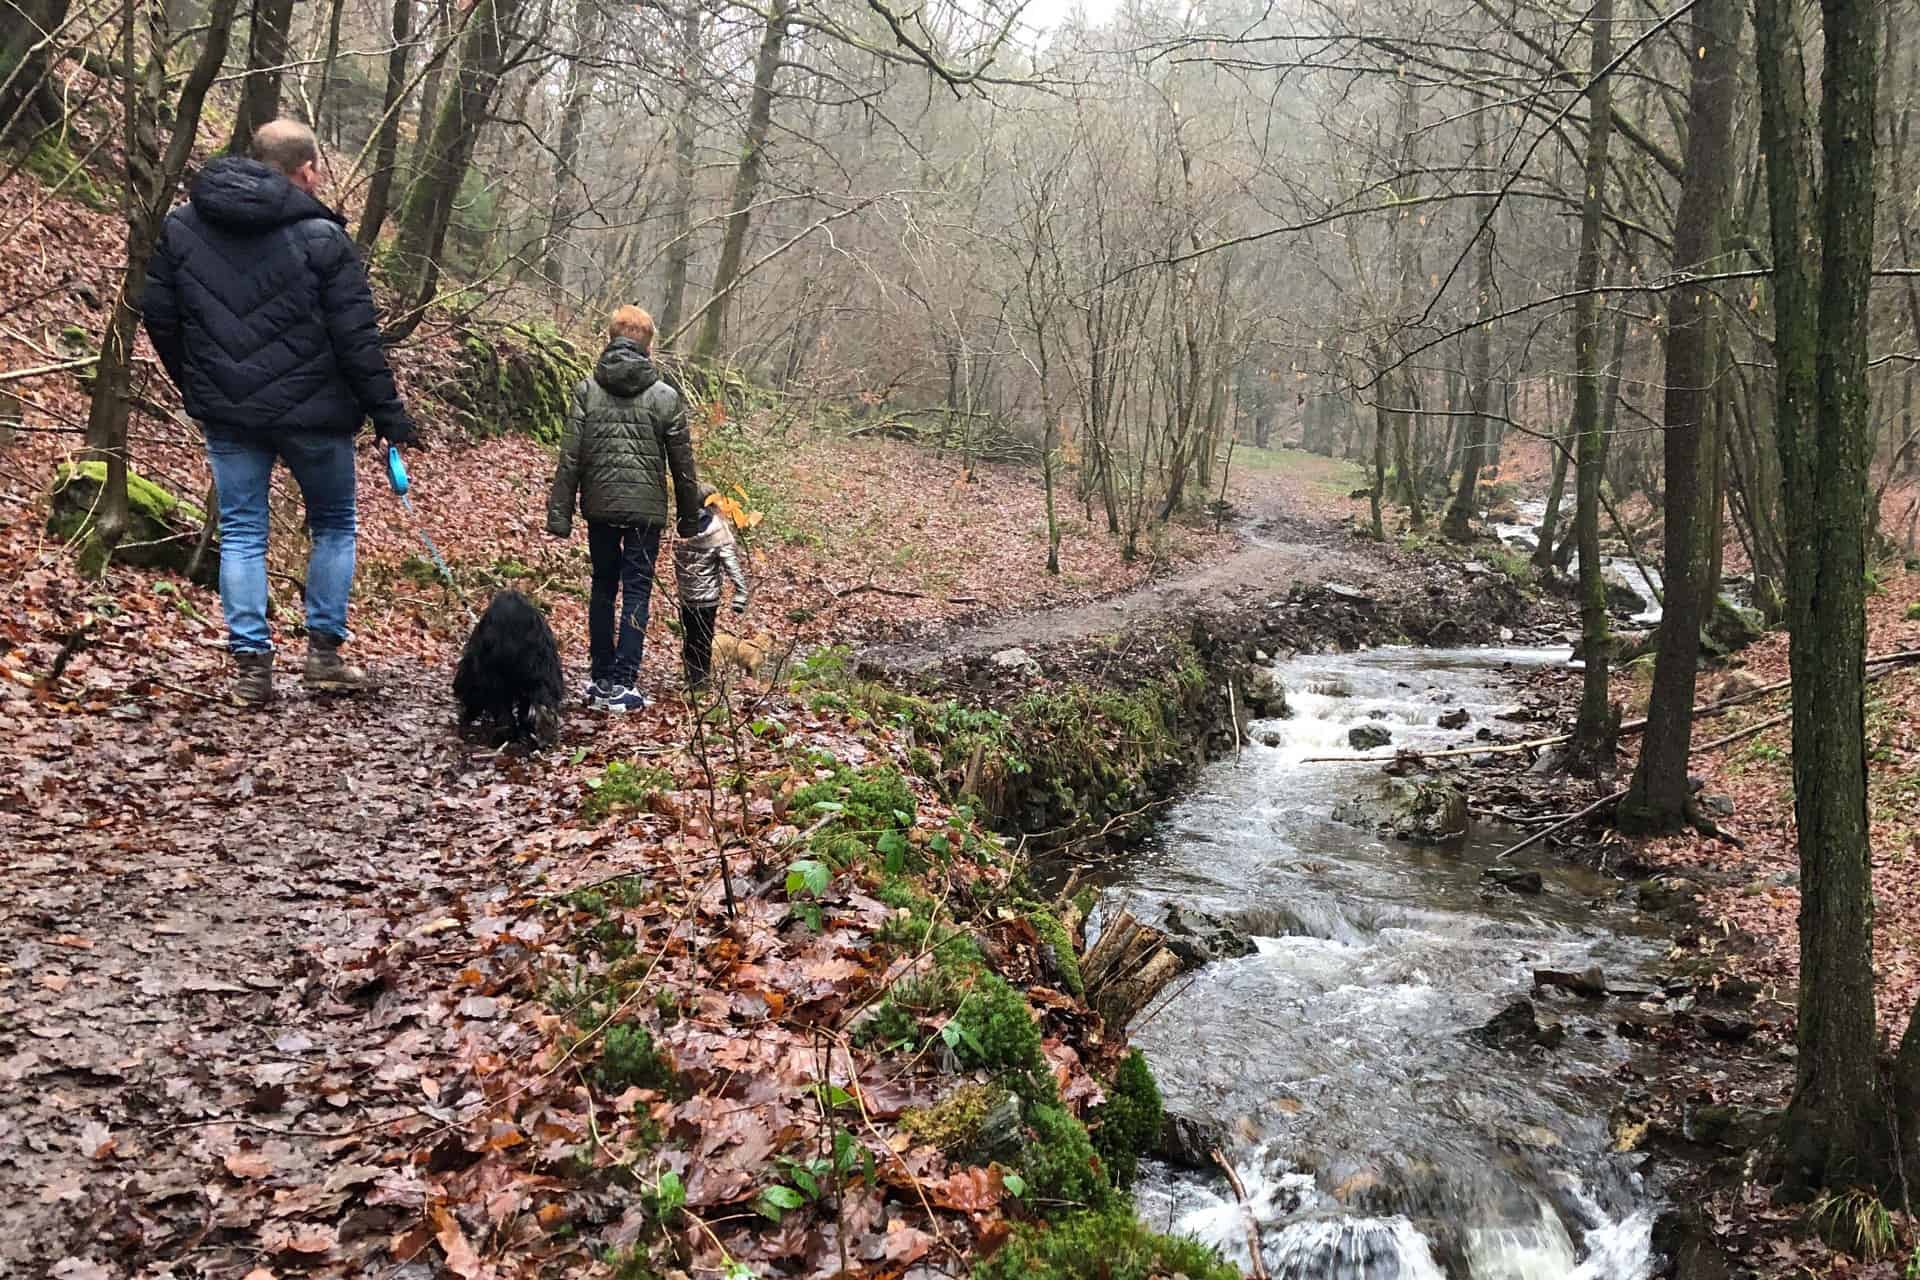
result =
[[[1632,1157],[1609,1150],[1626,1059],[1603,1006],[1542,1002],[1557,1050],[1498,1050],[1469,1032],[1534,967],[1645,973],[1651,936],[1611,887],[1551,858],[1536,898],[1488,896],[1509,842],[1415,848],[1336,825],[1377,766],[1348,754],[1369,720],[1396,745],[1461,745],[1492,722],[1503,664],[1565,651],[1380,649],[1281,668],[1290,720],[1260,722],[1212,766],[1102,898],[1152,919],[1167,904],[1235,915],[1260,952],[1200,969],[1131,1038],[1171,1111],[1225,1125],[1275,1280],[1638,1280],[1653,1209]],[[1436,718],[1465,706],[1467,729]],[[1219,1176],[1152,1169],[1142,1217],[1250,1261],[1246,1213]]]

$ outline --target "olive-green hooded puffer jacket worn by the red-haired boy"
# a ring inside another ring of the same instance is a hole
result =
[[[591,378],[574,388],[561,464],[547,495],[547,532],[574,530],[574,503],[593,524],[666,524],[666,478],[680,518],[699,520],[699,478],[687,403],[632,338],[601,351]]]

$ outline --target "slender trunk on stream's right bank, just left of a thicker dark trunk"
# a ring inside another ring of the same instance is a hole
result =
[[[1599,284],[1599,236],[1607,184],[1607,134],[1613,130],[1607,63],[1613,61],[1613,0],[1596,0],[1592,10],[1594,59],[1586,83],[1586,196],[1580,201],[1580,259],[1574,269],[1574,530],[1580,539],[1580,639],[1586,672],[1580,685],[1580,716],[1572,729],[1572,758],[1584,771],[1599,771],[1613,762],[1619,720],[1607,699],[1607,583],[1599,560],[1599,478],[1607,464],[1607,434],[1601,428],[1599,368],[1603,342]]]

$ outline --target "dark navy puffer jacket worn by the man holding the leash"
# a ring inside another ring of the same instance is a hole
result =
[[[209,432],[411,430],[344,219],[275,169],[227,155],[167,215],[146,332]]]

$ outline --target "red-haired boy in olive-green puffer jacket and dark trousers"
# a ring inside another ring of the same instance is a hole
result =
[[[576,503],[588,518],[593,593],[588,597],[591,672],[586,699],[601,710],[636,712],[647,704],[634,685],[666,528],[666,478],[674,478],[682,537],[699,532],[703,509],[687,401],[660,378],[647,353],[653,317],[639,307],[620,307],[607,328],[607,349],[593,376],[574,388],[561,462],[547,493],[547,532],[572,535]],[[614,597],[620,597],[618,631]]]

